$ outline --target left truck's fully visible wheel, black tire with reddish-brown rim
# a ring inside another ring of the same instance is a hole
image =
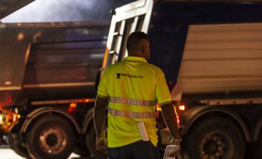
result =
[[[68,158],[74,151],[74,132],[68,121],[48,115],[34,122],[27,133],[31,158]]]

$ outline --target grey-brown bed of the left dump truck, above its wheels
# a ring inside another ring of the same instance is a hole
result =
[[[0,26],[0,105],[94,97],[108,23]]]

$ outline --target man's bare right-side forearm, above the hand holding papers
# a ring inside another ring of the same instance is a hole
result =
[[[174,106],[172,103],[167,103],[161,105],[161,110],[163,118],[165,119],[165,124],[170,130],[173,141],[171,144],[180,145],[179,142],[179,127],[177,124],[177,115],[174,111]]]

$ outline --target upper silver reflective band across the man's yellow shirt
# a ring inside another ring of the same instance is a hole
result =
[[[127,97],[109,97],[109,102],[112,103],[123,103],[137,106],[155,106],[157,104],[156,100],[137,100]]]

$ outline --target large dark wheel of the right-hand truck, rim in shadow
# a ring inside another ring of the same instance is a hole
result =
[[[185,158],[241,159],[245,140],[241,130],[230,120],[210,118],[194,125],[182,142]]]

